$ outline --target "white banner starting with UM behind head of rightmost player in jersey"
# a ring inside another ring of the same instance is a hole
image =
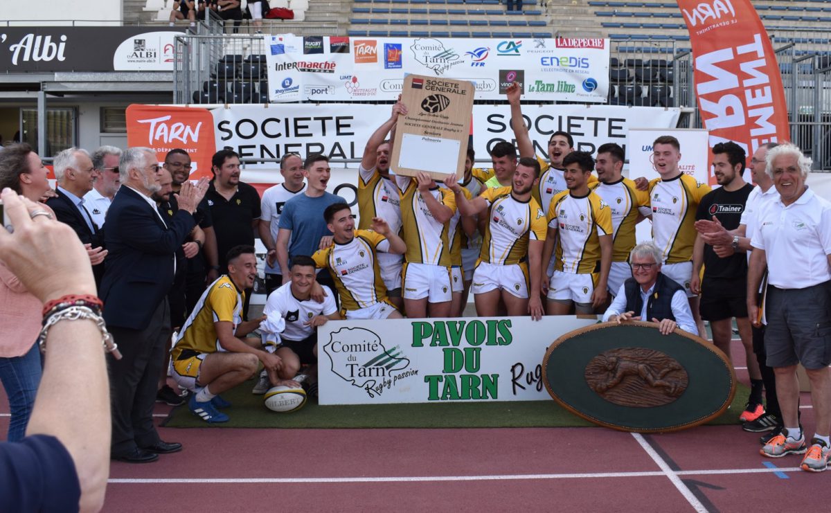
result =
[[[652,143],[661,135],[672,135],[678,139],[681,146],[681,161],[678,163],[678,169],[701,183],[707,183],[709,177],[707,159],[710,154],[708,134],[709,131],[706,129],[629,129],[629,143],[627,144],[629,178],[644,177],[647,180],[658,178],[660,175],[652,162]],[[746,175],[745,178],[747,178]],[[637,224],[635,237],[637,242],[652,240],[652,219],[650,222]]]

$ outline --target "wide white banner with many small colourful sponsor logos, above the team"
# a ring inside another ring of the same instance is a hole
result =
[[[603,103],[608,93],[602,38],[281,35],[265,43],[272,101],[288,101],[297,85],[303,100],[395,100],[410,73],[472,81],[476,100],[504,99],[513,81],[529,100]]]

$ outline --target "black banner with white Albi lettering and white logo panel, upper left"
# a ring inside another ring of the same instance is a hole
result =
[[[0,72],[173,71],[181,28],[2,27]]]

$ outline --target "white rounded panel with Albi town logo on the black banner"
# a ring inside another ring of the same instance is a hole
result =
[[[115,71],[173,71],[175,39],[181,32],[145,32],[121,42],[112,56]]]

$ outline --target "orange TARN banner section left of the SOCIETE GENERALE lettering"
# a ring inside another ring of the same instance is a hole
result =
[[[127,144],[155,150],[159,162],[171,149],[190,155],[190,179],[210,177],[216,153],[214,116],[206,109],[133,104],[127,107]]]

